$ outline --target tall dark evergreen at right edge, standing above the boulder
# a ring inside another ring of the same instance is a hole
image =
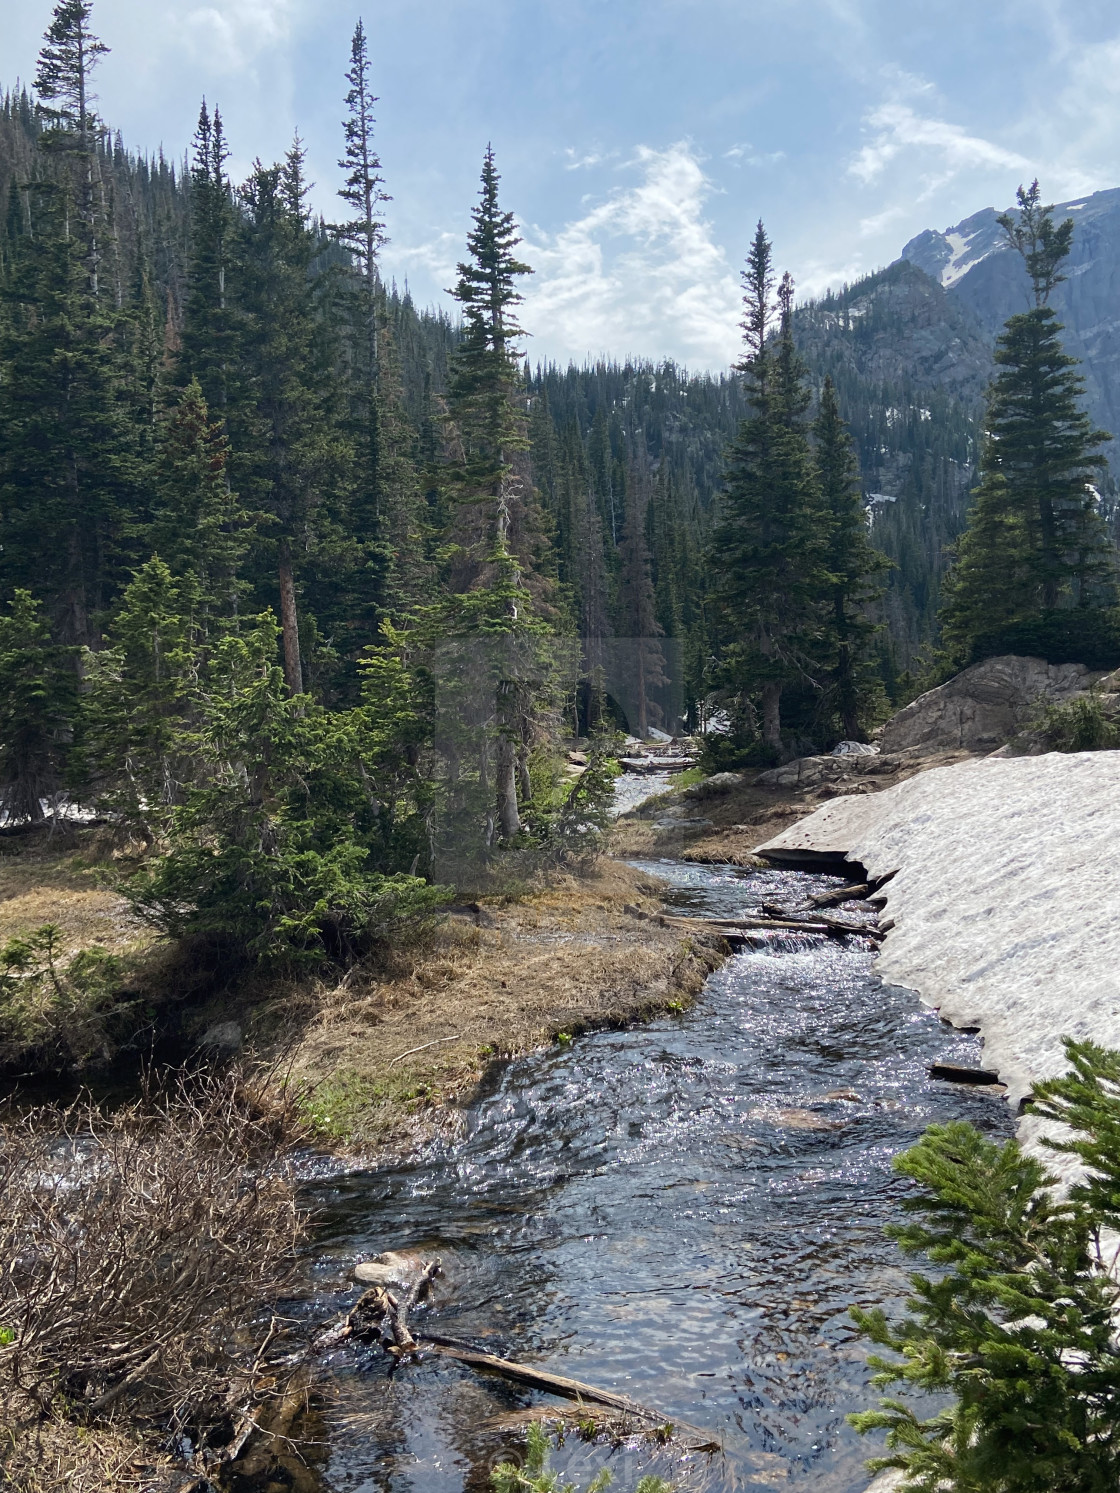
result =
[[[944,615],[957,661],[968,661],[993,624],[1116,597],[1093,485],[1105,467],[1099,446],[1110,437],[1093,430],[1083,409],[1084,379],[1062,349],[1062,325],[1048,305],[1063,279],[1074,221],[1054,225],[1051,213],[1033,182],[1018,190],[1018,216],[1001,218],[1023,255],[1033,305],[1008,320],[996,343],[981,482]]]

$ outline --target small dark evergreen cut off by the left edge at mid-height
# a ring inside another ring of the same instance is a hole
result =
[[[51,640],[39,602],[16,591],[0,615],[0,814],[39,824],[66,781],[78,681],[70,649]]]

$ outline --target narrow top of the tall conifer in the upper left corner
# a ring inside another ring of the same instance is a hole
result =
[[[105,125],[94,112],[93,70],[109,48],[90,30],[90,0],[60,0],[43,37],[34,87],[39,112],[51,128],[43,143],[75,160],[75,203],[84,236],[90,291],[100,291],[102,246],[99,227],[105,216],[105,193],[97,146]]]

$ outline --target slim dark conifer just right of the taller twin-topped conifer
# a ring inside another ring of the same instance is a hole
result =
[[[857,741],[869,696],[878,687],[871,649],[880,629],[869,609],[883,596],[883,576],[890,561],[868,539],[856,452],[830,378],[821,390],[814,436],[817,481],[829,517],[824,567],[830,602],[826,632],[830,693],[845,738]]]

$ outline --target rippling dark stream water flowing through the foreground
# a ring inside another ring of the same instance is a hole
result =
[[[642,869],[715,914],[835,884]],[[569,1436],[557,1465],[612,1457],[618,1493],[651,1468],[681,1489],[863,1489],[875,1448],[844,1417],[874,1391],[848,1306],[903,1290],[883,1238],[905,1193],[892,1157],[930,1121],[1009,1132],[998,1099],[927,1078],[935,1059],[977,1056],[854,939],[736,954],[684,1015],[497,1070],[454,1147],[321,1184],[324,1291],[357,1257],[439,1254],[418,1327],[620,1390],[723,1445],[651,1462]],[[332,1493],[485,1489],[518,1445],[509,1414],[541,1402],[448,1360],[335,1369]]]

